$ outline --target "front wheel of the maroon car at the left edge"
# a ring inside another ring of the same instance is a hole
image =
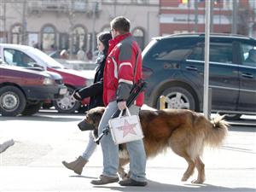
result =
[[[26,107],[26,97],[15,86],[0,88],[0,113],[2,116],[16,116],[23,112]]]

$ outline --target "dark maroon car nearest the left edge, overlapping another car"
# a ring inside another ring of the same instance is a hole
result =
[[[58,73],[38,72],[0,62],[0,113],[2,116],[37,113],[45,100],[67,93]]]

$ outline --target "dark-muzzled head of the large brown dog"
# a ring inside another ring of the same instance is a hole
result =
[[[85,113],[85,118],[79,123],[81,131],[98,130],[98,126],[105,111],[104,107],[92,108]]]

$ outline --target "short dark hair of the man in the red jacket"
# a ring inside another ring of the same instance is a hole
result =
[[[130,20],[124,16],[119,16],[111,20],[110,26],[121,34],[130,32]]]

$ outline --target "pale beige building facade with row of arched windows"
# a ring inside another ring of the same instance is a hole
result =
[[[96,35],[124,15],[143,49],[159,32],[159,0],[2,0],[0,42],[37,46],[45,52],[96,49]],[[71,49],[70,49],[71,48]]]

